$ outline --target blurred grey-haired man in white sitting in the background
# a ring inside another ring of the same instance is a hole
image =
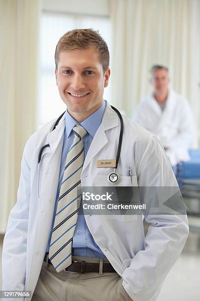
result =
[[[169,71],[162,65],[151,68],[153,91],[136,108],[133,120],[154,133],[162,143],[170,162],[189,160],[188,149],[194,138],[194,118],[183,96],[169,88]]]

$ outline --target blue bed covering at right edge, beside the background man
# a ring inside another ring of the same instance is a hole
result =
[[[200,149],[190,150],[189,153],[190,161],[182,164],[183,179],[200,179]]]

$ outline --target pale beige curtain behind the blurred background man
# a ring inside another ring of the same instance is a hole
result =
[[[131,118],[150,92],[151,65],[165,64],[200,129],[200,0],[110,0],[110,13],[113,103]]]

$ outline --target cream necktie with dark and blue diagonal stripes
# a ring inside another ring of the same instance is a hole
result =
[[[66,159],[58,205],[50,241],[49,259],[57,272],[72,264],[72,241],[78,214],[77,187],[84,162],[83,137],[87,131],[79,124],[73,127],[74,141]]]

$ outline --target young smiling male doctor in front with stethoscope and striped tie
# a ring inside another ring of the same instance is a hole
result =
[[[82,205],[76,214],[80,183],[110,185],[113,166],[98,168],[97,162],[116,158],[121,127],[103,100],[109,51],[98,32],[64,34],[55,66],[67,110],[54,130],[56,120],[25,145],[17,203],[3,242],[2,289],[31,291],[33,301],[156,300],[187,239],[187,216],[144,214],[151,223],[144,237],[143,215],[84,215]],[[116,185],[177,187],[157,138],[124,116],[123,122]]]

